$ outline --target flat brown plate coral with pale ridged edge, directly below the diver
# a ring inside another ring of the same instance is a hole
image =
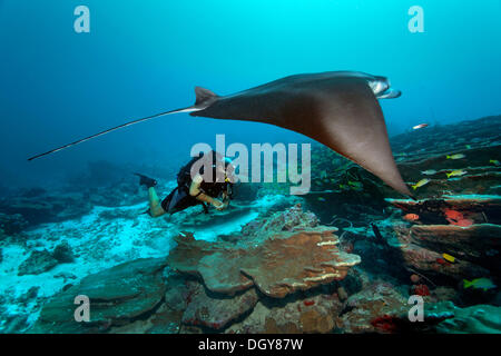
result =
[[[202,277],[215,293],[232,295],[255,285],[266,296],[283,298],[343,279],[360,263],[358,256],[337,249],[332,233],[327,227],[281,233],[248,249],[178,236],[168,261],[179,273]]]

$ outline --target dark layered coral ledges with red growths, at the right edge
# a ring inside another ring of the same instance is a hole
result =
[[[410,267],[461,280],[499,275],[501,251],[501,199],[493,196],[459,196],[433,200],[390,199],[403,214],[416,214],[418,221],[400,225],[395,236]],[[468,216],[469,226],[458,226],[448,216]],[[489,218],[488,218],[489,217]],[[454,260],[443,258],[443,254]]]

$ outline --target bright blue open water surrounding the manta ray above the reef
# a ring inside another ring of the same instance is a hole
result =
[[[73,9],[90,9],[90,33]],[[424,33],[407,30],[411,6]],[[0,184],[46,185],[89,160],[179,165],[191,145],[299,141],[250,122],[165,117],[33,162],[126,120],[283,76],[360,70],[403,91],[391,134],[501,113],[501,1],[0,0]]]

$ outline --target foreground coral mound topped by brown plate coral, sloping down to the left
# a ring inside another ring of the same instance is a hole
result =
[[[165,258],[125,263],[57,294],[29,333],[237,333],[249,330],[246,317],[255,332],[332,332],[342,310],[333,290],[361,260],[337,248],[336,228],[311,217],[295,206],[215,243],[183,233]],[[267,234],[256,234],[264,225]],[[90,299],[89,323],[75,320],[79,295]],[[275,313],[256,326],[263,308]]]

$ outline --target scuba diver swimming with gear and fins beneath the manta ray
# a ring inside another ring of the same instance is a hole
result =
[[[197,166],[199,166],[198,170]],[[202,205],[205,214],[208,214],[207,204],[217,210],[226,209],[233,196],[234,172],[235,167],[230,159],[218,152],[208,151],[202,158],[194,157],[179,170],[177,187],[161,202],[155,190],[157,181],[140,174],[135,175],[139,177],[139,185],[148,188],[147,212],[156,218],[167,212],[173,215],[196,205]]]

